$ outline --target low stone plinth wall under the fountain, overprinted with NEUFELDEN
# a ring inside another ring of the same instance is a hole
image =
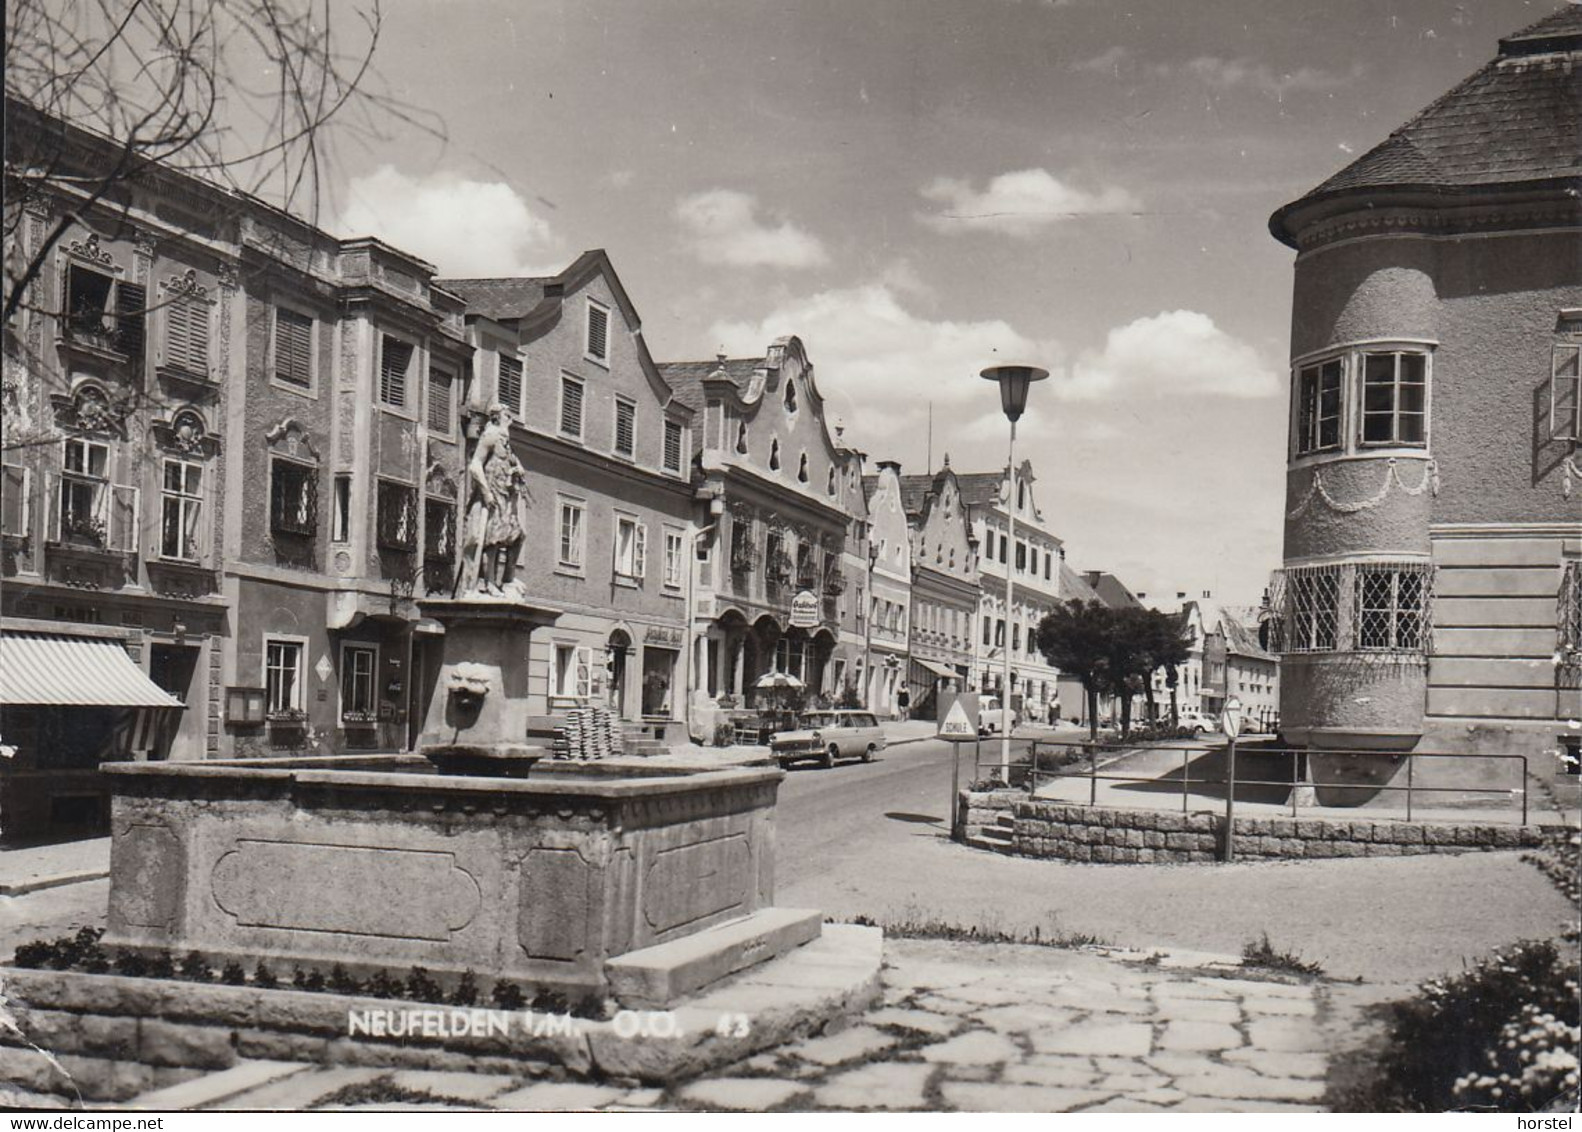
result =
[[[242,1059],[666,1083],[864,1013],[881,958],[878,928],[829,923],[748,979],[669,1010],[607,1021],[516,1010],[506,1032],[451,1023],[457,1032],[421,1037],[353,1036],[351,1015],[473,1007],[0,966],[0,1092],[127,1100]],[[736,1012],[751,1018],[747,1029],[718,1024]]]

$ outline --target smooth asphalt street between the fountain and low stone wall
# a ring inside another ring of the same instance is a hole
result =
[[[982,759],[998,762],[998,741]],[[963,748],[962,783],[971,779]],[[1264,931],[1326,972],[1411,982],[1576,920],[1517,852],[1234,865],[1079,865],[949,840],[951,748],[794,768],[775,814],[775,903],[837,919],[1090,933],[1123,947],[1239,955]]]

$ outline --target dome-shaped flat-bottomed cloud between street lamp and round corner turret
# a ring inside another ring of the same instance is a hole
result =
[[[1280,379],[1256,349],[1207,315],[1168,310],[1112,329],[1103,349],[1076,359],[1058,392],[1069,400],[1136,394],[1272,397],[1280,392]]]

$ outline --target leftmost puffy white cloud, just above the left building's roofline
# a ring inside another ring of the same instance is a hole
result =
[[[563,266],[549,223],[503,182],[380,166],[351,182],[337,228],[377,236],[441,275],[544,275]]]

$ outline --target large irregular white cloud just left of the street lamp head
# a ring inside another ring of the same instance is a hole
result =
[[[783,334],[807,345],[829,416],[861,425],[862,435],[875,440],[916,433],[930,400],[941,422],[992,406],[993,391],[978,372],[995,357],[1047,364],[1058,354],[1054,343],[1030,338],[1001,319],[914,315],[888,283],[788,299],[763,319],[720,321],[709,329],[710,341],[737,356],[761,354]]]

